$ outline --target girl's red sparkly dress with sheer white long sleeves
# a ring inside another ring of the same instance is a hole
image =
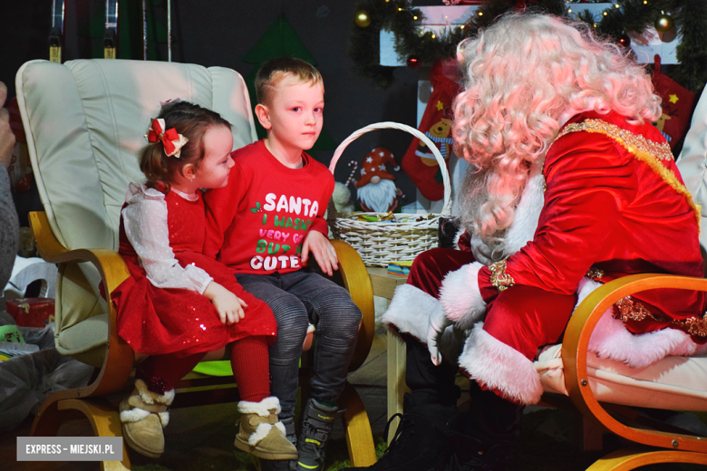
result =
[[[276,321],[267,304],[237,284],[225,265],[201,254],[205,234],[199,191],[189,196],[172,190],[164,196],[131,184],[121,211],[118,250],[131,277],[113,291],[112,299],[118,308],[118,334],[134,351],[186,356],[251,335],[275,341]],[[221,323],[202,294],[212,279],[247,303],[245,319],[230,326]]]

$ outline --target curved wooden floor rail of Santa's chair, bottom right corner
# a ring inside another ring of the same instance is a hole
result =
[[[658,463],[691,463],[707,465],[707,454],[693,451],[645,451],[639,449],[622,449],[610,453],[586,468],[586,471],[629,471],[639,466]]]

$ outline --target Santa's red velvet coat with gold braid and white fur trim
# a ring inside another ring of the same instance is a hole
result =
[[[439,301],[436,293],[405,285],[396,292],[383,322],[421,340],[426,339],[425,321],[440,309],[463,327],[476,323],[465,341],[460,366],[511,399],[532,403],[542,391],[532,355],[518,353],[521,349],[514,350],[512,340],[497,341],[479,322],[499,288],[510,286],[504,294],[506,304],[508,299],[512,303],[512,293],[522,291],[520,287],[543,290],[548,299],[578,292],[581,301],[596,285],[625,274],[701,277],[699,217],[670,148],[653,126],[631,125],[615,113],[585,112],[567,122],[547,151],[542,174],[528,181],[508,230],[503,250],[507,258],[495,264],[493,280],[489,267],[468,263],[469,257],[460,255],[464,264],[459,270],[450,267]],[[508,329],[527,337],[532,328],[524,326],[528,307],[522,304],[518,302],[518,321]],[[670,290],[654,290],[625,300],[619,307],[623,320],[613,319],[616,311],[611,311],[605,315],[611,324],[603,331],[606,338],[593,337],[590,344],[590,349],[609,358],[638,365],[667,354],[693,352],[697,343],[707,340],[703,293],[681,291],[676,296]],[[557,319],[567,322],[566,315]],[[651,342],[660,348],[650,354],[631,345],[624,351],[606,350],[616,343],[609,339],[614,335],[640,337],[627,333],[623,325],[631,332],[671,329],[651,334]],[[501,378],[499,369],[505,366],[498,358],[514,364]]]

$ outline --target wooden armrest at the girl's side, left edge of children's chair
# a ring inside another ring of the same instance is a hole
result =
[[[31,212],[29,222],[37,240],[37,251],[45,261],[53,264],[90,262],[98,269],[110,307],[111,324],[107,332],[107,351],[102,369],[90,385],[78,389],[78,393],[77,389],[67,389],[67,393],[70,392],[70,397],[76,398],[102,396],[121,389],[130,377],[135,357],[130,345],[118,336],[115,323],[116,311],[111,302],[111,293],[130,276],[127,265],[121,255],[112,250],[67,249],[54,235],[44,212]]]

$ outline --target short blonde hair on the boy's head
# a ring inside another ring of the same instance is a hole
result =
[[[286,77],[292,77],[295,82],[311,82],[312,85],[321,84],[324,88],[322,74],[315,66],[295,57],[278,57],[271,59],[260,67],[256,75],[256,98],[262,105],[272,99],[276,86]]]

